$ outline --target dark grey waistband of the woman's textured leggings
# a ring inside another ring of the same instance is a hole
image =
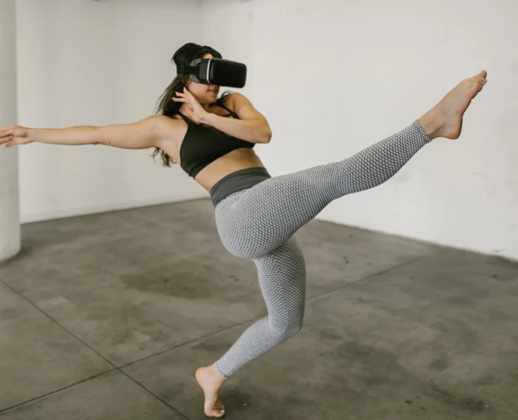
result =
[[[251,188],[266,179],[272,178],[264,167],[240,169],[232,172],[214,184],[209,191],[214,208],[229,195]]]

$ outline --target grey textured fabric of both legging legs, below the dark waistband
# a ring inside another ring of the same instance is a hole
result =
[[[333,200],[390,179],[429,142],[416,120],[350,158],[274,176],[216,206],[223,246],[255,262],[268,311],[214,363],[222,377],[230,378],[302,328],[306,266],[295,232]]]

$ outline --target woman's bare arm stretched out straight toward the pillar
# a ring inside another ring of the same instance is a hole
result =
[[[104,144],[117,148],[144,149],[160,147],[170,136],[173,121],[165,116],[144,118],[137,123],[105,125],[80,125],[68,128],[25,128],[8,127],[0,131],[0,144],[12,141],[14,144],[29,142],[79,146]],[[19,139],[17,141],[17,139]]]

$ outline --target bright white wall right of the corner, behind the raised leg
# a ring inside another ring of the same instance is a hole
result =
[[[518,259],[517,18],[515,0],[217,0],[204,2],[204,42],[246,59],[272,175],[346,158],[486,69],[461,139],[318,218]]]

